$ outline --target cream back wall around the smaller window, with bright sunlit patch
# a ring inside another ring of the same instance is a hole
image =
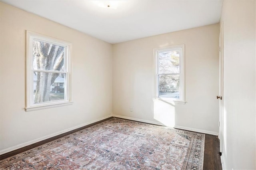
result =
[[[113,114],[218,134],[218,38],[214,24],[114,44]],[[187,103],[153,106],[153,49],[179,44],[185,44]]]

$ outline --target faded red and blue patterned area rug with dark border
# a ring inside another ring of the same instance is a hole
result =
[[[202,170],[204,134],[113,118],[0,161],[0,169]]]

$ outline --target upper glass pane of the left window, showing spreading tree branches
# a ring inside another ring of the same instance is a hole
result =
[[[33,40],[33,69],[64,71],[65,47]]]

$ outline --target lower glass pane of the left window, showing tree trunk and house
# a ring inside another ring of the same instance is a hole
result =
[[[34,103],[65,99],[65,73],[35,72],[33,76]]]

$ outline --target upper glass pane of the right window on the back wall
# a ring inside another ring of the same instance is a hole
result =
[[[180,51],[158,53],[158,73],[180,73]]]

